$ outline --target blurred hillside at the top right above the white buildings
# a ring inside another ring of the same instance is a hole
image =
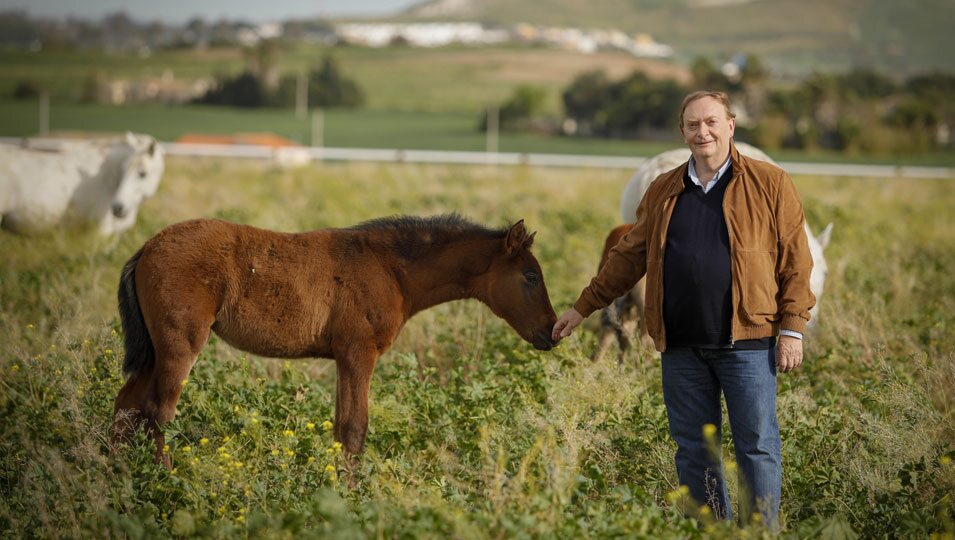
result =
[[[952,0],[431,0],[399,18],[616,27],[672,45],[680,60],[752,53],[781,75],[955,69]]]

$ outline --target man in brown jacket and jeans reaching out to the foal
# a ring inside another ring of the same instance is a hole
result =
[[[802,334],[815,304],[812,258],[792,179],[740,155],[735,128],[726,94],[684,99],[680,132],[689,161],[649,186],[633,229],[554,325],[553,338],[569,336],[646,274],[645,320],[663,357],[680,484],[716,516],[732,518],[718,456],[722,393],[745,494],[741,521],[759,512],[776,527],[776,373],[802,363]]]

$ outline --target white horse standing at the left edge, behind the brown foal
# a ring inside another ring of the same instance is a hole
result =
[[[156,193],[163,152],[148,135],[66,142],[49,150],[0,145],[0,227],[21,233],[55,225],[116,234]]]

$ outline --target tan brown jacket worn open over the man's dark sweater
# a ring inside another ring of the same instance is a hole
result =
[[[816,298],[809,290],[812,255],[802,202],[789,175],[740,155],[733,146],[733,177],[723,198],[732,264],[731,339],[805,332]],[[637,222],[574,304],[587,317],[647,276],[644,317],[657,350],[666,349],[663,325],[663,251],[687,164],[661,174],[637,208]]]

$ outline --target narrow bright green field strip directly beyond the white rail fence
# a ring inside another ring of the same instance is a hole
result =
[[[0,136],[25,137],[37,133],[39,109],[35,103],[0,101]],[[330,110],[323,113],[323,143],[327,147],[396,148],[406,150],[484,151],[487,140],[477,130],[477,114],[461,112],[402,112],[373,109]],[[272,132],[302,144],[311,144],[312,123],[291,110],[243,110],[226,107],[106,106],[56,104],[51,106],[54,133],[84,136],[119,134],[126,130],[149,133],[174,141],[186,133]],[[670,142],[576,138],[530,133],[501,133],[501,152],[652,156],[682,145],[679,134]],[[955,166],[955,153],[859,156],[836,152],[773,152],[780,161]]]

